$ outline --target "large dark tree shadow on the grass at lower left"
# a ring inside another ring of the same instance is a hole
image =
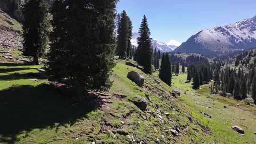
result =
[[[0,142],[13,144],[18,141],[19,134],[35,128],[73,125],[101,104],[92,104],[89,100],[88,103],[88,106],[74,106],[48,84],[19,85],[1,90]]]

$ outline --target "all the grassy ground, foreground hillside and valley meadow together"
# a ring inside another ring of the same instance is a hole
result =
[[[207,84],[192,90],[186,74],[173,76],[169,87],[157,72],[116,62],[110,92],[95,92],[84,106],[40,77],[41,66],[0,63],[0,144],[256,144],[255,107],[210,95]],[[142,74],[145,86],[130,81],[130,71]],[[174,88],[182,93],[177,99]],[[138,98],[146,99],[146,111],[133,104]]]

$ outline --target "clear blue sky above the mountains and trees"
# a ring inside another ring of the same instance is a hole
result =
[[[138,31],[144,15],[151,37],[180,45],[204,29],[228,25],[256,16],[256,0],[119,0]]]

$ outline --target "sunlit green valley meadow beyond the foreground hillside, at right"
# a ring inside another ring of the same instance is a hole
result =
[[[192,90],[191,82],[185,83],[186,74],[173,77],[174,86],[186,91],[181,100],[186,104],[195,117],[205,126],[210,127],[212,135],[209,136],[209,143],[214,144],[255,144],[256,137],[256,108],[246,106],[243,102],[223,98],[218,95],[210,95],[210,84],[202,86],[200,90]],[[195,95],[193,95],[195,94]],[[197,95],[197,94],[200,94]],[[241,107],[236,107],[240,104]],[[229,106],[232,105],[232,106]],[[224,108],[227,106],[228,108]],[[210,108],[208,108],[210,107]],[[203,116],[203,113],[212,115],[212,119]],[[231,129],[237,125],[245,130],[242,136]]]

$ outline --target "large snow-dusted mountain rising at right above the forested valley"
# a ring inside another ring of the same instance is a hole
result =
[[[256,46],[256,16],[234,24],[202,30],[174,50],[216,55]]]

